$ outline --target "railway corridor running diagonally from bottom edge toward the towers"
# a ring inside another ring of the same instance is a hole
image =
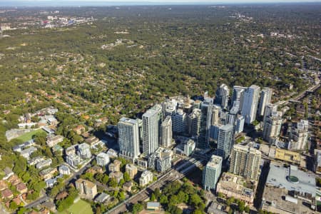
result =
[[[165,173],[164,175],[161,175],[158,178],[158,180],[151,183],[146,188],[143,188],[143,190],[131,196],[131,198],[124,200],[122,203],[116,205],[116,207],[112,208],[111,210],[108,210],[107,213],[126,212],[127,210],[126,205],[135,204],[135,203],[138,203],[139,201],[146,200],[147,198],[149,198],[149,194],[151,193],[151,191],[156,190],[156,188],[161,188],[166,183],[170,183],[175,180],[180,180],[184,178],[194,168],[199,167],[200,165],[204,165],[207,162],[206,159],[198,161],[195,158],[188,158],[188,159],[185,159],[185,161],[187,162],[181,165],[175,165],[167,173]]]

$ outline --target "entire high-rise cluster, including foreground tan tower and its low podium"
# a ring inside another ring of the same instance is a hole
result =
[[[156,104],[142,119],[121,118],[118,123],[121,156],[135,161],[144,158],[149,168],[165,172],[171,168],[173,151],[190,156],[194,148],[215,149],[215,155],[203,169],[203,186],[228,198],[234,197],[253,204],[260,178],[261,152],[235,143],[245,124],[262,130],[263,140],[270,145],[280,143],[282,111],[271,103],[272,89],[259,86],[222,84],[215,98],[205,93],[195,100],[177,96]],[[259,122],[260,121],[260,122]],[[306,148],[308,123],[290,124],[288,149]],[[180,145],[172,150],[173,136]],[[254,143],[255,145],[255,143]],[[222,174],[222,168],[228,170]]]

